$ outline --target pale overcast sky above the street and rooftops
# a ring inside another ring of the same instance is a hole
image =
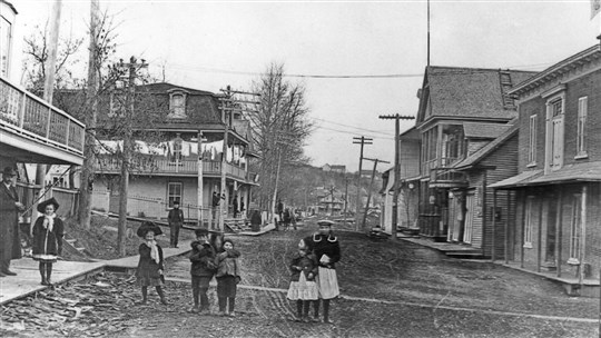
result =
[[[19,11],[19,41],[45,24],[53,1],[10,1]],[[269,63],[283,63],[287,79],[306,88],[315,130],[305,153],[313,166],[356,171],[353,138],[362,136],[373,139],[364,157],[392,163],[394,121],[378,116],[416,115],[427,61],[426,0],[100,0],[100,7],[119,22],[119,57],[144,58],[151,73],[165,72],[175,84],[247,90]],[[431,64],[543,70],[599,43],[600,16],[591,20],[590,8],[589,0],[432,0]],[[61,37],[86,37],[89,16],[89,1],[63,0]],[[401,121],[401,132],[413,125]]]

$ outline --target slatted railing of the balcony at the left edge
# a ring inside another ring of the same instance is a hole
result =
[[[0,128],[38,142],[83,155],[83,123],[2,77],[0,77]]]

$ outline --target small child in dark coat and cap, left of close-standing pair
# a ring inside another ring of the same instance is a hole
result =
[[[196,240],[191,242],[193,251],[190,255],[194,307],[189,311],[199,314],[209,309],[207,291],[217,265],[215,264],[215,248],[208,241],[208,230],[196,229],[195,235]],[[200,305],[198,304],[199,298]]]

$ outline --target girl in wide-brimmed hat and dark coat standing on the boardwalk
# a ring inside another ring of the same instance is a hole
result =
[[[62,251],[62,237],[65,237],[65,226],[57,217],[59,203],[55,198],[50,198],[38,205],[38,211],[42,216],[38,217],[32,229],[31,254],[35,260],[39,261],[41,284],[52,285],[52,264],[57,261]]]

